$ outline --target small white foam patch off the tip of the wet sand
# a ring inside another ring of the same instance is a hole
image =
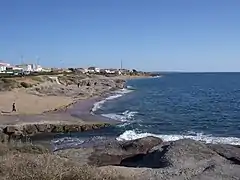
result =
[[[110,114],[102,114],[102,116],[110,118],[110,119],[114,119],[114,120],[120,120],[122,122],[126,122],[129,120],[132,120],[133,117],[135,116],[135,114],[137,114],[137,112],[135,111],[124,111],[121,114],[114,114],[114,113],[110,113]]]

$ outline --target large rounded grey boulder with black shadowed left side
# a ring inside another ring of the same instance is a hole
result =
[[[122,166],[165,168],[207,167],[209,164],[221,164],[225,159],[209,149],[205,144],[183,139],[170,142],[168,145],[154,147],[147,155],[133,156],[124,159]]]

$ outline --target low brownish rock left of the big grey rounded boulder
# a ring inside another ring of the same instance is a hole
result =
[[[146,137],[129,142],[111,140],[97,140],[80,145],[77,149],[56,151],[61,157],[68,157],[80,163],[95,166],[120,165],[125,158],[136,154],[146,154],[162,140],[156,137]]]

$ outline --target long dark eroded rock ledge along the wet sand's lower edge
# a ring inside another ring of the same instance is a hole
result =
[[[21,139],[40,133],[70,133],[83,132],[88,130],[108,127],[108,123],[96,124],[23,124],[5,125],[0,129],[0,141],[8,142],[11,139]]]

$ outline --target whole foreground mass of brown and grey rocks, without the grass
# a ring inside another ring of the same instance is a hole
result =
[[[239,180],[239,148],[183,139],[162,143],[155,137],[130,142],[111,140],[60,150],[56,155],[100,166],[103,171],[131,174],[138,180]]]

